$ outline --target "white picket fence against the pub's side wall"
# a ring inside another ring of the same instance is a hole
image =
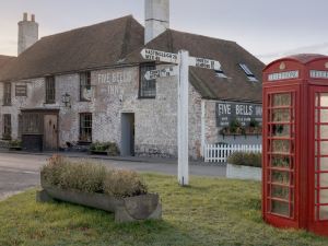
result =
[[[262,152],[261,144],[207,144],[204,148],[204,162],[224,163],[233,152]]]

